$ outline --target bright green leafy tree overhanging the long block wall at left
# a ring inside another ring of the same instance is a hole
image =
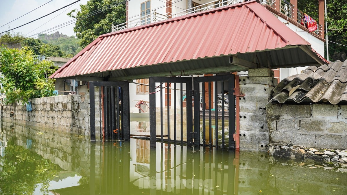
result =
[[[37,61],[28,48],[22,50],[0,48],[1,92],[6,95],[6,103],[53,96],[54,79],[46,77],[58,67],[52,61]]]

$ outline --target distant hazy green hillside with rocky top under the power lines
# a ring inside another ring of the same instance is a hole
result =
[[[75,36],[67,36],[59,31],[53,34],[39,34],[39,39],[43,43],[51,43],[52,45],[57,45],[62,51],[67,54],[67,57],[75,56],[82,48],[79,47],[80,40]]]

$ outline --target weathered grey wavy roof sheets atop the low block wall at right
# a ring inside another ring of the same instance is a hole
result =
[[[347,102],[347,60],[329,66],[311,66],[301,74],[283,79],[274,89],[270,101]]]

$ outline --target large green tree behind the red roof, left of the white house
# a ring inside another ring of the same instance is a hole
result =
[[[99,35],[110,33],[112,24],[125,22],[125,1],[89,0],[80,7],[81,10],[73,9],[68,16],[77,19],[74,31],[83,48]]]

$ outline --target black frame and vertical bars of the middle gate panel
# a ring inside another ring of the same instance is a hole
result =
[[[155,147],[156,146],[156,92],[160,91],[160,99],[161,99],[161,103],[160,103],[160,112],[161,112],[161,116],[160,116],[160,122],[161,122],[161,128],[160,128],[160,138],[161,138],[161,143],[163,146],[163,95],[162,95],[162,91],[163,89],[167,89],[167,125],[168,125],[168,129],[167,129],[167,133],[168,133],[168,138],[167,141],[170,144],[171,142],[171,138],[170,138],[170,83],[174,83],[174,115],[176,115],[176,83],[180,83],[181,86],[181,144],[183,144],[183,98],[182,98],[182,88],[183,88],[183,83],[186,83],[186,91],[187,91],[187,96],[186,96],[186,102],[187,102],[187,116],[186,116],[186,125],[187,125],[187,135],[186,135],[186,143],[187,145],[192,145],[193,143],[193,105],[192,105],[192,78],[191,77],[150,77],[150,86],[149,86],[149,92],[150,92],[150,147]],[[156,87],[156,83],[160,83],[160,90],[156,91],[158,87]],[[162,87],[162,84],[165,83],[166,87]],[[174,118],[174,143],[175,145],[177,144],[177,121],[176,121],[176,117]]]

